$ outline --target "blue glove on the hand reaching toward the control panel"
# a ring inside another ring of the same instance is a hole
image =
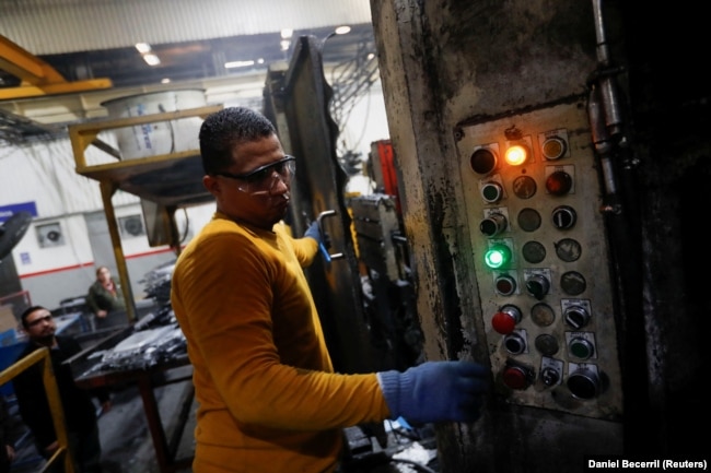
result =
[[[405,373],[377,374],[392,418],[466,422],[480,415],[489,369],[471,362],[427,362]]]

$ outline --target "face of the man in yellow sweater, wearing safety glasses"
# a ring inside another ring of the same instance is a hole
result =
[[[217,199],[218,210],[234,221],[271,229],[287,214],[294,162],[285,156],[279,139],[272,134],[236,145],[232,163],[202,179]]]

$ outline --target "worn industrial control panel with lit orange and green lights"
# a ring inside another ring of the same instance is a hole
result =
[[[585,104],[462,126],[456,138],[497,392],[617,418],[614,296]]]

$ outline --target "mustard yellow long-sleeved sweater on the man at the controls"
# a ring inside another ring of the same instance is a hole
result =
[[[331,472],[341,428],[389,416],[376,376],[333,366],[302,268],[312,238],[219,212],[178,258],[172,305],[194,366],[194,473]]]

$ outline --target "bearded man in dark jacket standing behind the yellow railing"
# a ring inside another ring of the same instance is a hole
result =
[[[81,346],[72,338],[55,334],[57,324],[49,310],[42,306],[30,307],[22,314],[22,326],[30,340],[18,360],[42,347],[49,348],[77,471],[101,472],[101,444],[96,406],[92,395],[98,399],[103,410],[106,411],[110,409],[108,391],[105,389],[88,391],[77,387],[69,366],[62,365],[62,362],[81,352]],[[13,383],[20,415],[32,431],[39,453],[50,458],[59,446],[45,393],[42,368],[42,364],[33,365],[18,375]]]

